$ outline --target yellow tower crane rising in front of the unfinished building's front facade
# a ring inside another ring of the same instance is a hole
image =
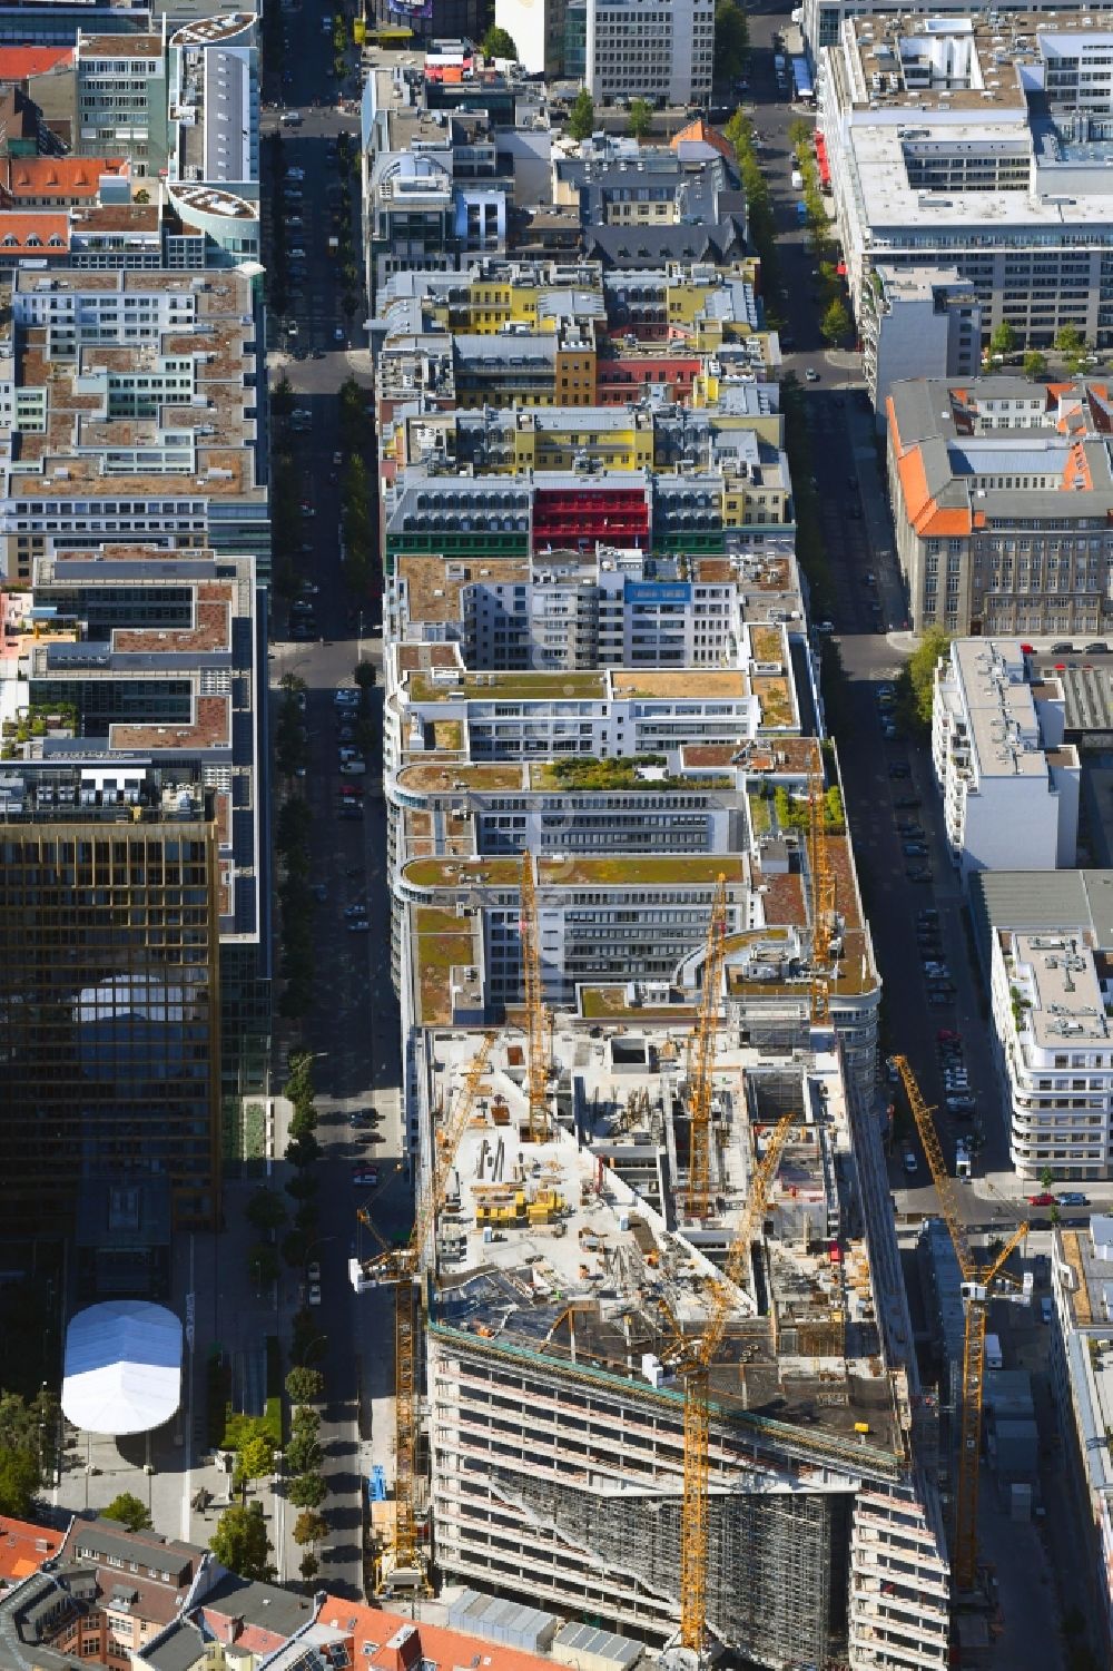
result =
[[[734,1303],[734,1288],[750,1275],[750,1243],[765,1211],[769,1190],[780,1165],[780,1155],[799,1115],[784,1115],[769,1135],[765,1153],[754,1168],[750,1188],[742,1208],[727,1262],[724,1280],[715,1283],[710,1317],[704,1333],[695,1340],[677,1340],[667,1354],[675,1372],[684,1379],[684,1502],[680,1507],[680,1648],[697,1659],[707,1638],[707,1544],[710,1511],[710,1367],[722,1345],[727,1318]],[[673,1323],[675,1328],[675,1323]]]

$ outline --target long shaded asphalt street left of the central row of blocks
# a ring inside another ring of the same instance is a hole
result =
[[[296,643],[287,637],[286,610],[279,603],[274,620],[271,680],[277,685],[284,672],[296,672],[306,682],[306,729],[309,737],[307,777],[301,784],[313,809],[313,881],[323,887],[316,929],[316,1004],[302,1028],[277,1039],[279,1064],[286,1049],[301,1046],[318,1058],[314,1079],[319,1088],[318,1138],[323,1145],[319,1165],[321,1237],[309,1258],[321,1263],[319,1365],[326,1375],[326,1405],[321,1440],[326,1452],[329,1497],[324,1514],[329,1537],[318,1551],[323,1567],[318,1582],[348,1596],[363,1594],[361,1571],[361,1494],[376,1452],[389,1449],[389,1435],[379,1432],[389,1422],[389,1405],[378,1404],[386,1387],[383,1354],[383,1303],[374,1297],[356,1297],[348,1280],[353,1253],[373,1250],[368,1232],[356,1220],[358,1208],[373,1213],[378,1232],[391,1240],[413,1218],[404,1143],[399,1126],[399,1026],[398,1006],[389,981],[389,897],[386,877],[386,822],[378,759],[368,760],[368,777],[341,779],[338,774],[336,714],[333,692],[353,683],[358,662],[371,660],[381,673],[381,638],[378,603],[353,597],[344,583],[338,541],[338,483],[333,455],[339,448],[336,391],[348,376],[371,386],[369,356],[359,346],[338,344],[336,331],[356,331],[356,321],[344,321],[339,307],[339,284],[328,254],[333,231],[326,187],[336,177],[336,164],[328,145],[339,132],[358,132],[351,112],[314,109],[313,95],[333,85],[331,40],[321,30],[321,15],[299,7],[286,12],[289,47],[286,62],[289,80],[284,87],[287,109],[302,112],[301,127],[282,129],[286,167],[304,170],[299,182],[302,197],[291,212],[302,226],[287,226],[287,246],[304,249],[304,277],[296,281],[301,297],[292,316],[297,321],[296,344],[318,351],[319,358],[294,359],[289,353],[272,353],[271,381],[286,374],[296,404],[311,413],[309,429],[297,436],[296,456],[302,473],[302,503],[311,508],[304,520],[302,570],[318,585],[318,638]],[[353,58],[354,62],[354,58]],[[266,127],[277,117],[271,112]],[[354,239],[358,249],[358,187]],[[264,202],[269,199],[264,196]],[[269,227],[264,222],[264,236]],[[358,341],[358,336],[353,336]],[[291,346],[279,333],[272,343]],[[378,480],[374,458],[368,455],[371,480]],[[379,725],[381,695],[376,688],[373,709]],[[359,820],[341,819],[338,812],[341,782],[364,790],[364,814]],[[294,785],[281,785],[289,789]],[[366,904],[369,932],[351,932],[344,907]],[[349,1125],[353,1110],[374,1110],[379,1120],[371,1128]],[[374,1188],[356,1186],[358,1166],[378,1170]],[[292,1569],[292,1567],[291,1567]]]

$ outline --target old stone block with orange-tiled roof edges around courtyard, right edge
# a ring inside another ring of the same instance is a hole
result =
[[[1105,632],[1113,556],[1100,383],[897,383],[886,404],[896,548],[916,628]]]

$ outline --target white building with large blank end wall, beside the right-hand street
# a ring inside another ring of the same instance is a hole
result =
[[[951,861],[973,871],[1075,864],[1080,759],[1063,688],[1018,642],[958,638],[936,668],[931,755]]]

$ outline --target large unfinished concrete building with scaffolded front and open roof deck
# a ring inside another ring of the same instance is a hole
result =
[[[558,1021],[548,1135],[521,1036],[486,1063],[448,1178],[426,1332],[440,1576],[650,1644],[680,1619],[684,1385],[785,1113],[710,1369],[707,1624],[760,1666],[948,1663],[934,1407],[919,1392],[879,1140],[831,1033],[774,1056],[720,1033],[710,1211],[689,1213],[684,1028]],[[436,1151],[476,1036],[418,1034]],[[782,1128],[784,1131],[784,1128]]]

